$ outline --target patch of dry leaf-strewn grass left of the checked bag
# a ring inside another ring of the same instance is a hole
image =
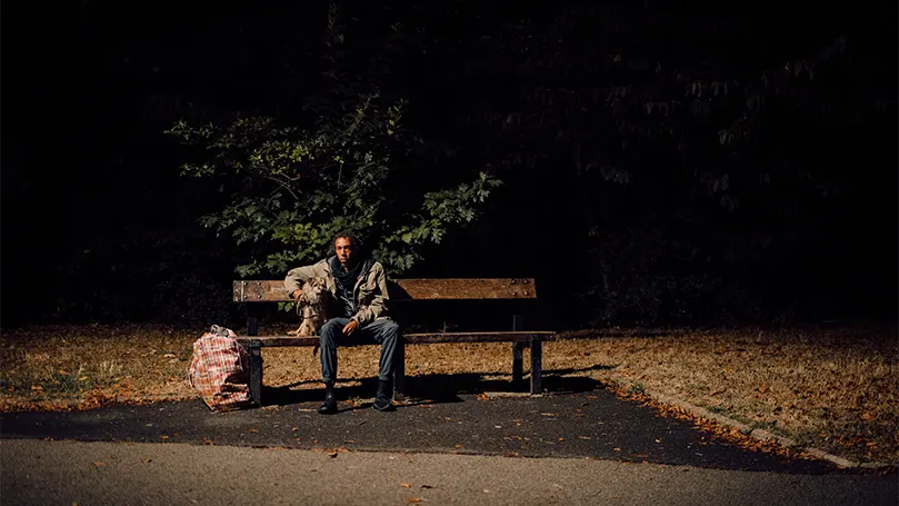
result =
[[[90,408],[193,397],[194,334],[42,326],[0,336],[0,410]]]

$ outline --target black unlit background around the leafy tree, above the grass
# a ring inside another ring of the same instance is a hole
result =
[[[455,151],[433,159],[441,173],[486,169],[503,186],[409,276],[536,277],[541,325],[566,328],[896,320],[895,2],[424,3],[343,3],[348,49],[371,51],[402,21],[382,89],[410,100],[408,128]],[[222,196],[179,177],[183,148],[162,131],[234,111],[296,119],[321,86],[306,54],[327,10],[4,3],[2,326],[239,321],[229,290],[244,251],[197,222]],[[769,97],[739,157],[716,143],[739,115],[678,117],[679,141],[633,140],[602,98],[562,111],[527,98],[659,82],[656,100],[680,99],[656,63],[743,89],[841,36],[815,79]],[[540,110],[549,119],[516,116],[512,133],[497,120]],[[590,159],[631,178],[587,171]],[[733,175],[737,209],[707,190],[707,170]],[[766,171],[775,183],[756,190]]]

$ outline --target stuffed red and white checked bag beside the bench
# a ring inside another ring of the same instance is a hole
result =
[[[213,325],[193,343],[190,385],[213,411],[230,411],[251,404],[250,355],[233,330]]]

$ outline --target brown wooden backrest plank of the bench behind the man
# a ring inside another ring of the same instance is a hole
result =
[[[536,299],[532,278],[431,278],[388,281],[390,300]],[[233,282],[234,302],[289,302],[282,280]]]

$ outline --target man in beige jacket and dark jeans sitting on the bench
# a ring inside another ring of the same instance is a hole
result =
[[[374,409],[390,410],[393,407],[393,365],[402,359],[402,336],[399,326],[390,319],[387,310],[387,276],[383,266],[363,258],[356,237],[346,231],[334,236],[334,255],[318,264],[290,270],[284,278],[284,288],[290,297],[301,295],[302,282],[321,278],[333,296],[328,321],[321,326],[321,377],[324,381],[324,403],[319,408],[322,415],[337,413],[334,380],[337,379],[337,347],[353,341],[374,341],[381,345],[378,370],[378,393]],[[399,355],[398,355],[399,350]]]

